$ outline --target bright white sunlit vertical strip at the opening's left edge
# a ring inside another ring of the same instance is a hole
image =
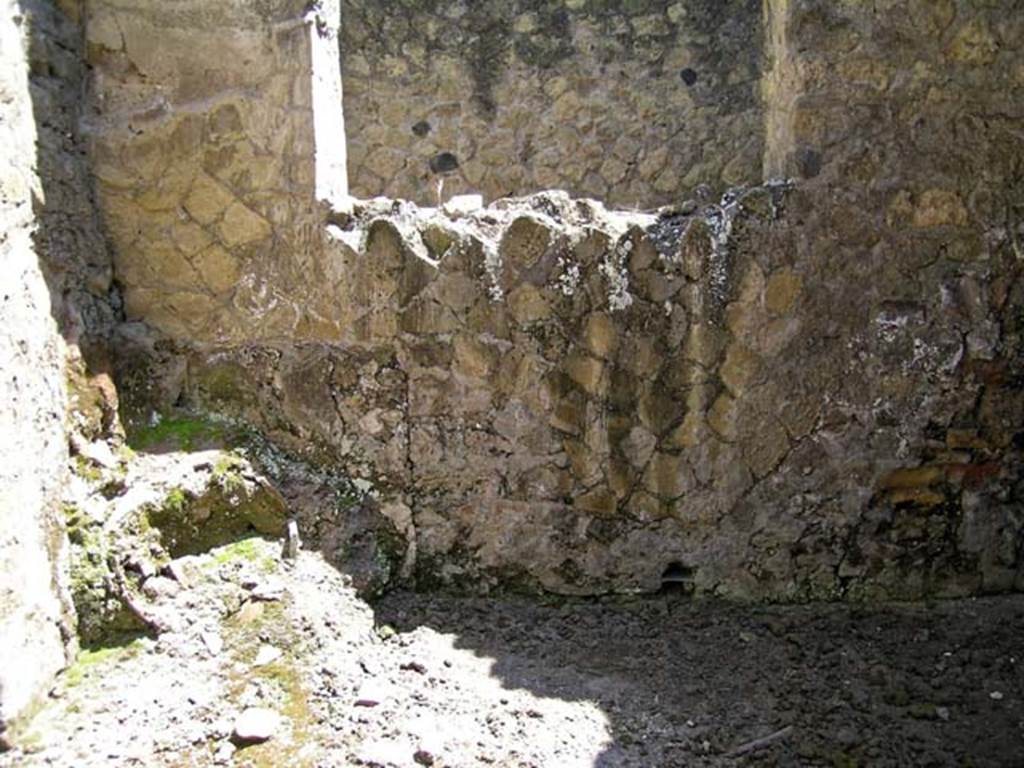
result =
[[[340,0],[321,0],[307,20],[310,23],[316,199],[339,206],[348,197],[345,114],[341,102],[341,54],[338,48]]]

